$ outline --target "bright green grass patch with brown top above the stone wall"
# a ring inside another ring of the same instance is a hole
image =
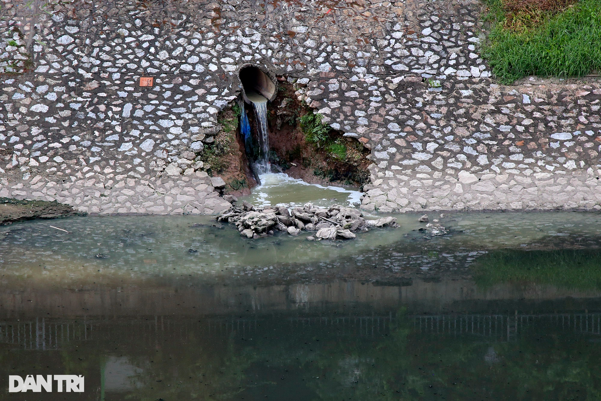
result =
[[[492,28],[482,54],[501,83],[601,71],[601,0],[486,1]]]

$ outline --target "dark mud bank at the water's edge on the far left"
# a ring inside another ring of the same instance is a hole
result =
[[[82,213],[76,212],[69,205],[58,202],[0,198],[0,225],[13,224],[13,222],[23,220],[55,219],[73,215],[82,215]]]

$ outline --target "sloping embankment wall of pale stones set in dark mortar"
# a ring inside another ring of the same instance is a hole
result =
[[[224,209],[194,152],[252,64],[371,149],[367,210],[601,209],[601,83],[495,84],[475,1],[1,1],[0,196]]]

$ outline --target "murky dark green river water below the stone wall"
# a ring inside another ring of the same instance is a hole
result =
[[[2,227],[0,399],[601,399],[599,213],[417,218],[320,243],[204,216]],[[65,373],[85,393],[7,391]]]

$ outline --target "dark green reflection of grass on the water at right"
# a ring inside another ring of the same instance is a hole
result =
[[[498,283],[550,284],[569,290],[601,289],[601,251],[503,250],[478,258],[474,279],[479,286]]]

